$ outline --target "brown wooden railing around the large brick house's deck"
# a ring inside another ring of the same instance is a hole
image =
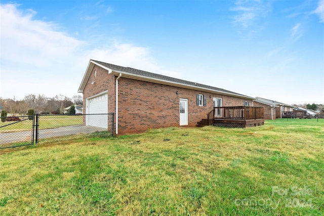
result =
[[[213,123],[213,119],[259,119],[263,118],[263,107],[235,106],[235,107],[214,107],[207,114],[208,124]]]

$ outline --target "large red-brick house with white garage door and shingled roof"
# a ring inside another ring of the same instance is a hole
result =
[[[115,134],[195,126],[207,118],[214,106],[251,106],[255,99],[209,85],[95,60],[90,60],[78,92],[84,96],[84,114],[115,113]]]

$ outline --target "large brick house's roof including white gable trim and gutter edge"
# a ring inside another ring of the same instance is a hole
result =
[[[235,92],[231,92],[228,90],[212,87],[210,85],[200,84],[196,82],[186,81],[183,79],[173,78],[170,76],[165,76],[157,73],[151,73],[143,70],[138,70],[131,67],[123,67],[118,65],[113,65],[105,62],[100,62],[96,60],[90,60],[88,68],[86,70],[85,76],[82,80],[82,83],[80,84],[80,88],[78,90],[79,93],[82,93],[87,80],[89,79],[90,73],[94,67],[94,65],[98,65],[108,71],[108,73],[112,73],[115,75],[122,74],[122,77],[132,78],[132,79],[138,79],[143,81],[149,81],[149,82],[155,82],[155,83],[162,83],[167,85],[172,85],[176,87],[186,88],[186,89],[194,89],[194,90],[200,90],[200,91],[206,91],[211,93],[219,93],[222,95],[229,95],[239,98],[245,98],[245,99],[255,99],[253,97],[249,97],[246,95],[241,95]]]

